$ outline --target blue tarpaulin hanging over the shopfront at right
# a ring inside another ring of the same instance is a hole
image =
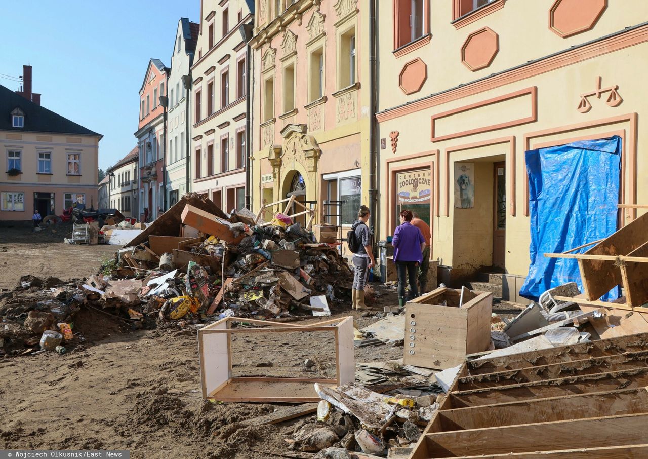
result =
[[[546,258],[616,231],[621,138],[586,140],[526,152],[531,266],[520,295],[529,300],[568,282],[583,283],[575,259]],[[588,246],[575,251],[583,253]],[[618,298],[615,287],[607,298]]]

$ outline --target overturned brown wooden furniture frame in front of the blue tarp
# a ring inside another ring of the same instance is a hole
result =
[[[592,244],[596,245],[585,253],[570,253]],[[544,256],[577,259],[584,290],[584,301],[578,303],[632,310],[648,302],[648,213],[601,241]],[[625,291],[625,304],[598,301],[619,284]],[[574,301],[562,297],[556,300]]]

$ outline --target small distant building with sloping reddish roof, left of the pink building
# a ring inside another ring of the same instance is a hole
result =
[[[137,218],[139,206],[137,202],[140,196],[140,187],[137,183],[139,176],[139,147],[135,147],[117,161],[108,171],[106,176],[110,178],[108,187],[107,207],[117,209],[128,218]]]

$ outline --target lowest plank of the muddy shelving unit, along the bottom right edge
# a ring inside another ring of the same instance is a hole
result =
[[[459,456],[454,459],[643,459],[648,457],[648,443],[601,448],[559,449],[533,453]],[[443,458],[442,458],[443,459]]]

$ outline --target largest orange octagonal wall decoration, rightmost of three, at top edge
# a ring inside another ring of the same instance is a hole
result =
[[[607,8],[607,0],[556,0],[549,10],[549,28],[567,38],[594,28]]]

